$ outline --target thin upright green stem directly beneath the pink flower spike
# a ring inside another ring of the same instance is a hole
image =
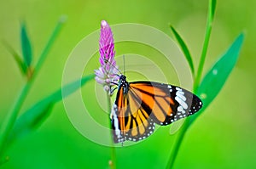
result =
[[[108,100],[108,112],[111,112],[111,99],[110,99],[110,95],[107,92],[107,100]],[[110,128],[110,136],[113,135],[112,133],[112,124],[111,121],[109,120],[109,128]],[[114,145],[113,145],[113,138],[110,138],[110,144],[111,144],[111,161],[109,161],[109,166],[112,169],[116,169],[116,155],[115,155],[115,149],[114,149]]]

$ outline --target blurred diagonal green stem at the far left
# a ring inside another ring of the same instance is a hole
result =
[[[20,108],[22,104],[24,103],[27,93],[30,91],[32,87],[32,83],[34,82],[35,77],[38,74],[38,71],[40,70],[41,66],[44,63],[44,60],[49,53],[49,49],[52,46],[53,42],[55,41],[55,38],[57,37],[58,33],[61,30],[61,26],[63,25],[65,20],[63,20],[63,17],[61,20],[57,23],[55,26],[55,30],[53,31],[52,35],[49,37],[49,41],[46,43],[46,46],[42,52],[42,54],[39,57],[38,64],[35,66],[34,72],[31,76],[31,79],[26,82],[25,86],[22,88],[21,93],[18,97],[18,99],[15,101],[15,104],[13,106],[13,109],[9,111],[8,115],[4,119],[1,128],[0,128],[0,156],[3,155],[3,149],[5,149],[6,140],[9,136],[9,132],[12,130],[15,124],[15,120],[19,114]]]

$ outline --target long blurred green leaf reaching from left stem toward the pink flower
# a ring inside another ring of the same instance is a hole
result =
[[[26,110],[20,115],[17,121],[15,121],[15,127],[9,136],[9,143],[39,127],[45,119],[47,119],[56,102],[75,92],[79,87],[82,87],[86,82],[89,82],[94,76],[95,75],[84,76],[78,81],[71,82],[65,87],[57,90],[55,93],[40,100],[37,104],[34,104],[29,110]]]

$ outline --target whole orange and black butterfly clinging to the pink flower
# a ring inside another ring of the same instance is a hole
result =
[[[114,143],[137,142],[154,132],[154,123],[166,126],[195,114],[202,101],[181,87],[159,82],[127,82],[119,76],[111,111]]]

